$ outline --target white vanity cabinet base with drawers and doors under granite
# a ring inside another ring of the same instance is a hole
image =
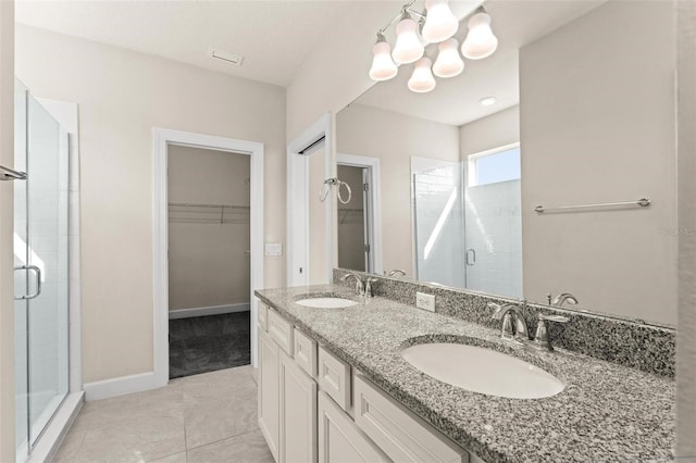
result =
[[[262,312],[259,426],[276,462],[482,462],[276,311]]]

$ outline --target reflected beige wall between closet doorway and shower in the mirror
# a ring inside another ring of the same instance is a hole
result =
[[[336,115],[336,150],[380,159],[384,270],[412,277],[411,157],[459,161],[459,127],[351,104]]]

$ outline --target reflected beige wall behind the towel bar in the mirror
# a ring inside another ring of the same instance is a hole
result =
[[[568,291],[582,308],[676,324],[674,40],[671,2],[617,1],[521,49],[529,299]],[[652,204],[534,212],[641,197]]]

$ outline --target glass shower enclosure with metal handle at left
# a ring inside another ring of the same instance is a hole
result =
[[[16,455],[27,460],[69,392],[69,138],[15,80]]]

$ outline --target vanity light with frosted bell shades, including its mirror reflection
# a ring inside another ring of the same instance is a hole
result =
[[[449,0],[425,0],[422,13],[412,9],[415,1],[406,3],[399,15],[377,32],[377,41],[372,47],[370,77],[377,82],[388,80],[397,75],[397,65],[415,63],[408,86],[412,91],[424,93],[436,86],[433,73],[442,78],[455,77],[464,70],[464,61],[460,55],[459,40],[453,37],[459,29],[459,21],[449,9]],[[419,17],[418,23],[411,14]],[[397,21],[397,38],[390,51],[384,33]],[[468,26],[469,32],[461,46],[463,57],[481,60],[493,54],[498,39],[490,28],[490,15],[483,7],[476,9]],[[439,43],[435,64],[426,50],[430,43]]]

